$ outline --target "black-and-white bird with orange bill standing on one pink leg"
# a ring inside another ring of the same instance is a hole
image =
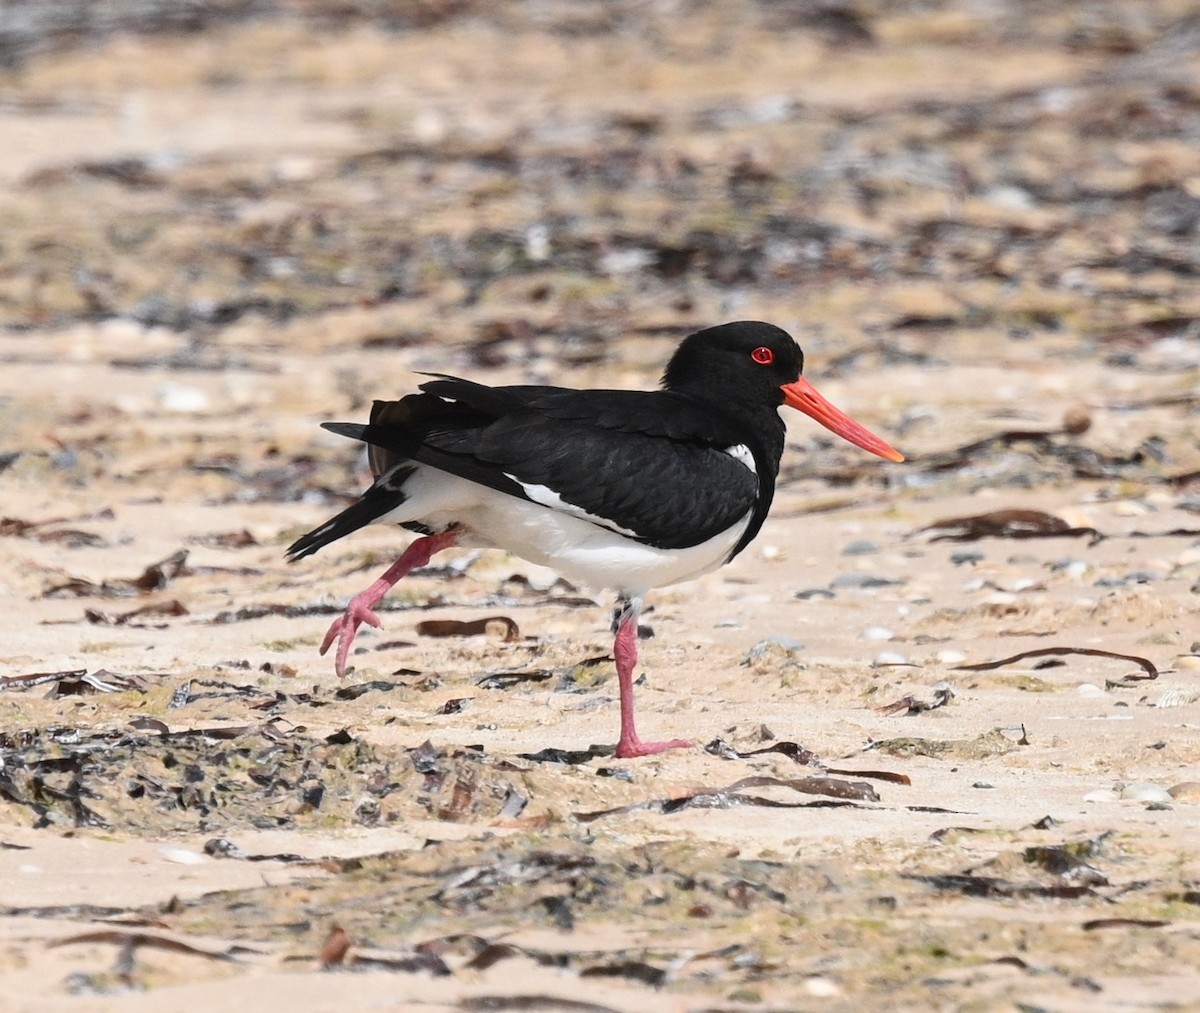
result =
[[[904,455],[834,407],[802,376],[804,353],[769,323],[738,320],[685,337],[659,390],[487,386],[432,379],[370,420],[323,428],[367,445],[372,485],[296,539],[296,562],[371,523],[418,535],[325,634],[344,676],[362,624],[404,575],[451,546],[497,547],[570,581],[617,594],[613,658],[618,759],[691,745],[643,741],[635,723],[638,617],[654,588],[708,574],[758,534],[784,454],[780,408],[888,461]]]

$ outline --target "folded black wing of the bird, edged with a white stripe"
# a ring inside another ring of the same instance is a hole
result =
[[[770,473],[763,503],[762,476],[725,452],[738,433],[686,395],[449,377],[421,390],[376,402],[370,425],[325,428],[371,444],[376,474],[409,460],[533,502],[557,497],[659,549],[697,545],[754,511],[740,551],[769,505],[774,467],[760,464]]]

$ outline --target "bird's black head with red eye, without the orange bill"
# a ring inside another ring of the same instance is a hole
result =
[[[782,386],[799,379],[804,353],[774,324],[738,320],[683,340],[662,374],[662,386],[745,406],[778,408]]]

